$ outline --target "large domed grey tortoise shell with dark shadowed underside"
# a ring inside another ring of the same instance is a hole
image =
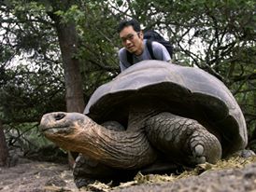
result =
[[[223,156],[248,143],[245,118],[231,91],[205,71],[162,61],[134,64],[94,91],[84,114],[125,125],[135,102],[164,103],[163,111],[197,120],[220,135]]]

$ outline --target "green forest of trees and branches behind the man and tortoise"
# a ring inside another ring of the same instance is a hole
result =
[[[164,35],[173,62],[199,67],[234,94],[256,140],[256,2],[253,0],[1,0],[0,165],[50,144],[40,118],[83,112],[94,89],[120,73],[116,29],[135,18]]]

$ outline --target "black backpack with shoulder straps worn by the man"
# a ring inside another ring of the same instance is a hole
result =
[[[144,39],[147,39],[146,46],[149,49],[149,54],[150,54],[152,60],[156,60],[154,53],[153,53],[153,49],[152,49],[152,41],[156,41],[156,42],[162,44],[169,52],[170,57],[173,58],[173,47],[170,44],[170,42],[166,41],[161,34],[158,34],[154,30],[148,30],[144,33]],[[128,50],[126,50],[126,55],[127,55],[127,62],[134,64],[133,54],[130,53]]]

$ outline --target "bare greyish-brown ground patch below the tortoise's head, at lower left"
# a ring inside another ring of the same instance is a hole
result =
[[[19,158],[16,166],[0,168],[0,191],[75,191],[72,171],[67,165]]]

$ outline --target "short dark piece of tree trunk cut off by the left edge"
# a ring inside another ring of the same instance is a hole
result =
[[[7,150],[6,137],[4,134],[2,121],[0,120],[0,167],[7,166],[7,157],[8,157],[8,150]]]

